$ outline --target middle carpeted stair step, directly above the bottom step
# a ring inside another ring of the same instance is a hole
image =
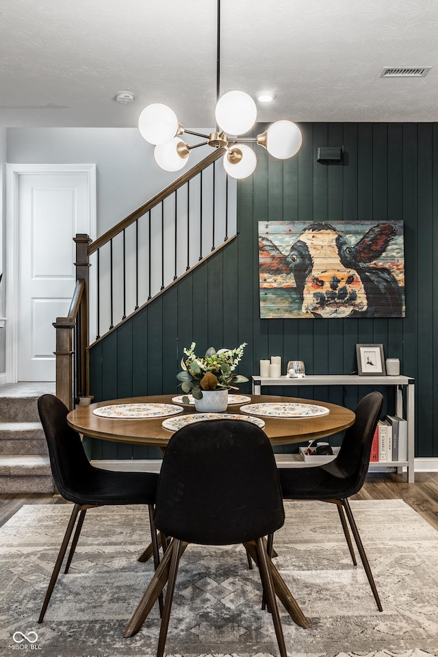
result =
[[[47,456],[47,442],[40,422],[0,422],[0,454]]]

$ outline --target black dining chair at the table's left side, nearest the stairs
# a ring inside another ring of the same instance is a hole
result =
[[[67,424],[67,407],[54,395],[42,395],[38,399],[38,413],[47,439],[51,470],[57,490],[65,500],[73,502],[75,505],[38,618],[38,623],[42,623],[79,512],[79,520],[68,554],[65,573],[68,573],[88,508],[115,504],[147,504],[149,507],[153,558],[155,568],[157,568],[159,556],[157,534],[153,524],[153,510],[158,474],[114,472],[91,465],[83,450],[79,433]]]

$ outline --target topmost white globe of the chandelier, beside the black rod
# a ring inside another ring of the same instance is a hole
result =
[[[255,124],[257,105],[244,91],[229,91],[218,100],[215,114],[220,129],[242,135]]]

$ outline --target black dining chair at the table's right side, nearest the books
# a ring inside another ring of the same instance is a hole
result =
[[[370,463],[372,439],[381,414],[382,402],[383,396],[380,392],[371,392],[359,402],[355,410],[355,422],[346,430],[339,454],[333,461],[309,467],[279,467],[283,500],[321,500],[337,505],[352,562],[356,566],[357,561],[344,515],[345,511],[379,611],[382,611],[381,600],[378,597],[370,563],[365,554],[348,498],[355,495],[365,481]],[[272,537],[268,544],[269,551],[272,546]]]

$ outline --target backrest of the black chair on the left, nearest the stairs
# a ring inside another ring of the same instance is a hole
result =
[[[38,413],[46,435],[56,487],[63,498],[77,502],[75,493],[78,485],[94,472],[79,433],[68,426],[68,409],[54,395],[42,395],[38,399]]]

